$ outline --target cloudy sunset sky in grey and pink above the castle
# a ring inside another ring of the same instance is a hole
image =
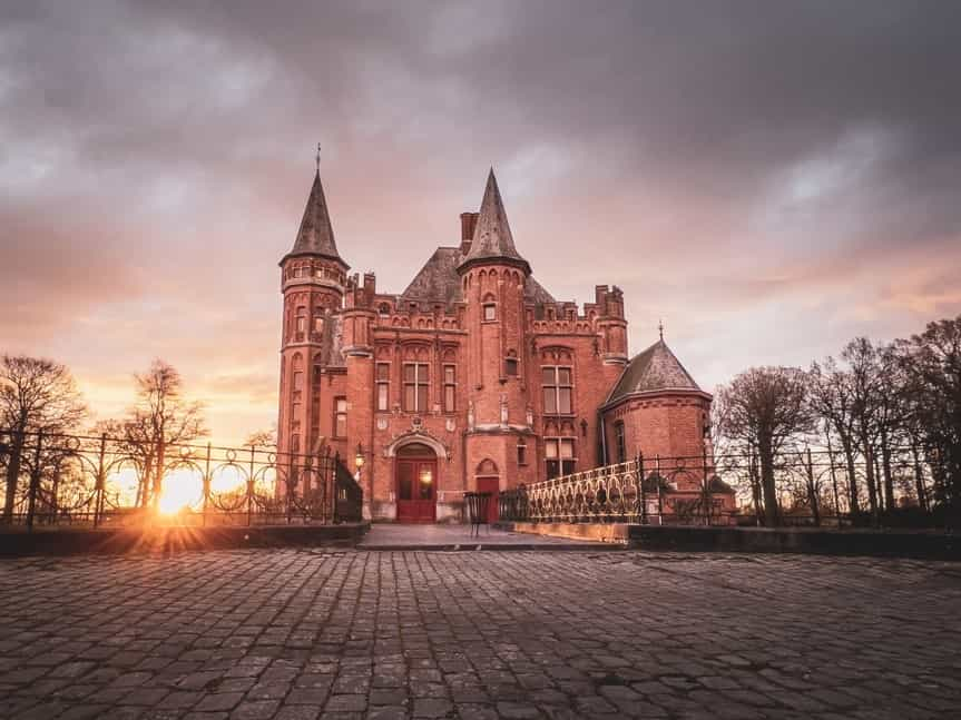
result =
[[[706,389],[961,312],[961,3],[0,0],[0,352],[98,417],[163,357],[276,418],[277,262],[323,145],[400,293],[488,168],[559,299],[624,288]]]

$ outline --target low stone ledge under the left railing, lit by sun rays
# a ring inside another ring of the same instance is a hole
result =
[[[0,532],[0,558],[23,555],[169,553],[182,550],[354,546],[369,523],[341,525],[160,526]]]

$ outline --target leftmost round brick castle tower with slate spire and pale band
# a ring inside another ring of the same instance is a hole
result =
[[[337,253],[320,164],[301,228],[280,263],[284,295],[281,338],[280,453],[310,453],[322,436],[322,378],[333,333],[333,314],[344,302],[350,266]],[[283,492],[283,489],[281,490]]]

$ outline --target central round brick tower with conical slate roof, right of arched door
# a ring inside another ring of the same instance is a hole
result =
[[[467,485],[478,489],[477,469],[497,467],[503,490],[523,480],[517,446],[531,433],[524,319],[530,265],[514,247],[493,169],[472,224],[458,266],[468,331]]]

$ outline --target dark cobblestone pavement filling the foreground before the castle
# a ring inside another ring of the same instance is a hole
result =
[[[945,718],[961,565],[635,552],[0,563],[0,717]]]

